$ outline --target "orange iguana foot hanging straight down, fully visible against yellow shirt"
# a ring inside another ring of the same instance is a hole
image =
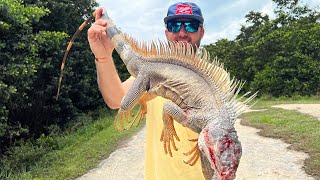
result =
[[[163,129],[162,129],[160,141],[163,141],[164,152],[166,154],[168,154],[168,152],[169,152],[169,155],[172,157],[170,142],[172,144],[173,149],[175,151],[177,151],[178,148],[176,147],[176,144],[174,143],[174,137],[178,141],[180,141],[180,139],[179,139],[179,137],[176,133],[176,130],[174,128],[173,118],[168,114],[164,114],[163,122],[164,123],[163,123]]]

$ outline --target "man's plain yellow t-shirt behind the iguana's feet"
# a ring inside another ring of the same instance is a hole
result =
[[[196,145],[196,142],[190,142],[188,139],[198,138],[197,133],[175,122],[174,127],[180,139],[180,141],[175,140],[178,151],[171,148],[173,157],[164,152],[163,142],[160,141],[160,137],[163,127],[162,109],[165,101],[167,100],[157,97],[147,103],[145,179],[203,180],[200,159],[194,166],[183,162],[183,160],[187,161],[191,157],[185,156],[183,153],[190,151]]]

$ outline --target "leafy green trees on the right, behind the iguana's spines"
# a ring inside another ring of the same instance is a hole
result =
[[[246,90],[272,96],[320,94],[320,12],[299,0],[273,0],[276,17],[246,15],[235,40],[206,46]]]

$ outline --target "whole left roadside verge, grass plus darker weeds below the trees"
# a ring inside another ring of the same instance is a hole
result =
[[[130,130],[116,131],[116,111],[100,114],[102,117],[94,122],[82,117],[82,125],[72,124],[66,133],[20,142],[0,160],[0,179],[74,179],[96,167],[120,142],[144,126],[143,121]]]

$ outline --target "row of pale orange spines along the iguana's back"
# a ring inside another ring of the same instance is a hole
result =
[[[108,29],[117,29],[112,20],[108,19],[107,24]],[[217,58],[210,63],[210,53],[207,52],[205,48],[201,48],[200,52],[196,52],[189,44],[176,42],[166,43],[160,40],[158,42],[138,41],[126,33],[122,33],[118,29],[112,30],[112,32],[118,33],[113,34],[111,40],[115,45],[118,46],[118,48],[122,49],[122,51],[119,53],[120,57],[125,63],[128,63],[129,61],[126,60],[126,53],[128,52],[125,51],[129,50],[130,53],[140,57],[143,61],[189,65],[189,67],[193,67],[197,71],[200,71],[204,76],[206,76],[206,79],[210,80],[210,83],[215,87],[215,92],[219,94],[220,98],[217,102],[218,108],[222,108],[222,106],[224,106],[230,112],[233,112],[233,117],[231,119],[234,121],[240,114],[249,108],[247,104],[253,98],[255,98],[257,94],[255,93],[248,97],[245,101],[240,102],[239,99],[250,94],[250,92],[248,92],[237,99],[244,82],[238,81],[235,78],[230,81],[230,74],[226,73],[223,64],[220,63]],[[130,49],[126,49],[128,47],[119,47],[119,44],[128,45]],[[234,122],[231,122],[231,124],[233,125]]]

